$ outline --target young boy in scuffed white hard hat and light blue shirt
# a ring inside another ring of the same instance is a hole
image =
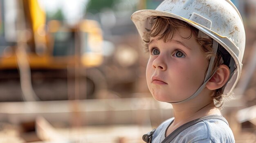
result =
[[[238,82],[245,49],[230,0],[164,0],[132,14],[150,57],[148,88],[174,117],[143,136],[151,143],[234,143],[219,107]]]

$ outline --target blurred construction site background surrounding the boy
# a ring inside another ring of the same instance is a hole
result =
[[[173,117],[148,91],[130,20],[162,1],[0,0],[0,143],[143,143]],[[222,114],[237,143],[256,143],[256,1],[231,1],[247,41]]]

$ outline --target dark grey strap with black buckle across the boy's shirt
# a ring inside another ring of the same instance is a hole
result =
[[[220,119],[220,120],[224,121],[225,123],[227,123],[227,120],[224,117],[219,116],[219,115],[209,115],[209,116],[205,116],[205,117],[202,117],[202,118],[199,118],[199,119],[195,119],[193,121],[185,123],[184,125],[181,125],[179,128],[174,130],[171,134],[169,134],[164,139],[164,141],[162,141],[161,143],[170,143],[178,134],[180,134],[185,129],[187,129],[187,128],[191,127],[192,125],[195,125],[195,124],[197,124],[201,121],[207,120],[207,119]],[[171,125],[171,123],[170,123],[170,125]],[[155,130],[156,129],[153,129],[151,132],[148,132],[147,134],[144,134],[143,137],[142,137],[143,141],[145,141],[146,143],[150,143]]]

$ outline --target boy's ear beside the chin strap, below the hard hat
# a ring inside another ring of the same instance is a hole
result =
[[[207,82],[206,87],[209,90],[216,90],[224,86],[229,79],[230,70],[229,67],[222,64],[218,67],[216,73],[211,77],[211,79]]]

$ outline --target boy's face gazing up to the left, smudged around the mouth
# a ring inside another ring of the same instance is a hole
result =
[[[190,29],[179,29],[171,41],[164,43],[151,37],[150,58],[146,69],[148,88],[158,101],[182,101],[204,82],[208,61]]]

